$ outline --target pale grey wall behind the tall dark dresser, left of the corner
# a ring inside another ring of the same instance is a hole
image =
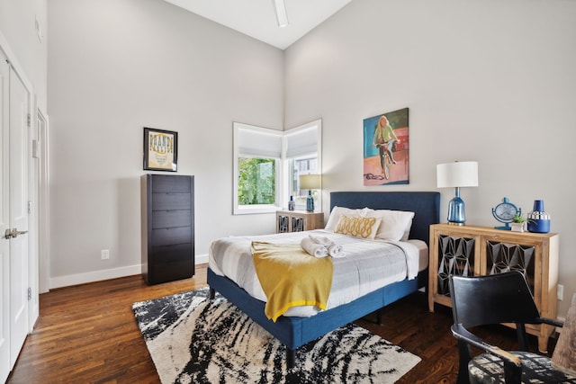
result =
[[[283,51],[160,0],[50,0],[49,36],[52,286],[139,272],[143,127],[178,132],[196,255],[274,230],[231,215],[232,121],[282,129]]]

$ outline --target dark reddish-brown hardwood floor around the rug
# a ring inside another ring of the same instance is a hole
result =
[[[206,285],[206,265],[192,279],[148,286],[140,276],[99,281],[40,295],[40,318],[8,383],[158,383],[154,363],[131,305]],[[383,309],[383,325],[370,315],[356,324],[419,355],[422,362],[400,383],[454,383],[458,365],[450,308],[428,312],[417,292]],[[478,330],[505,349],[515,334],[504,326]],[[536,351],[536,337],[530,340]],[[554,348],[551,339],[549,351]]]

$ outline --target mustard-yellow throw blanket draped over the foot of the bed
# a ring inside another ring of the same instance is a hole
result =
[[[334,266],[330,257],[314,257],[302,246],[253,241],[258,280],[266,293],[266,317],[276,319],[292,307],[326,309]]]

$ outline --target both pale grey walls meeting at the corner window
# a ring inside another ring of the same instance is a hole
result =
[[[213,238],[274,226],[230,214],[231,122],[321,118],[325,197],[436,190],[435,165],[459,159],[480,162],[480,186],[463,191],[469,223],[496,225],[504,196],[524,212],[544,199],[561,234],[565,314],[576,290],[575,16],[569,0],[356,0],[283,53],[160,0],[50,0],[52,276],[139,263],[143,126],[179,132],[205,255]],[[410,184],[365,188],[362,120],[403,107]],[[444,218],[452,192],[441,192]]]

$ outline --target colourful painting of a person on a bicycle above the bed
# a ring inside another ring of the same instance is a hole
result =
[[[364,184],[408,184],[408,108],[364,120]]]

